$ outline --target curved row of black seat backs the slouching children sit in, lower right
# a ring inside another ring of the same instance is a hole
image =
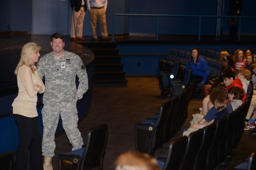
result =
[[[217,123],[173,139],[167,157],[158,157],[162,169],[214,169],[236,149],[244,131],[245,116],[253,94],[252,84],[243,105]],[[255,160],[254,160],[255,161]]]

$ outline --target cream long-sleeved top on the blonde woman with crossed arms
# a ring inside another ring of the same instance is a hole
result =
[[[36,67],[36,66],[34,66]],[[34,74],[29,66],[20,66],[17,74],[18,96],[12,103],[13,114],[26,117],[36,117],[37,113],[37,92],[44,93],[45,86],[38,72]],[[39,85],[39,91],[34,90],[34,85]]]

